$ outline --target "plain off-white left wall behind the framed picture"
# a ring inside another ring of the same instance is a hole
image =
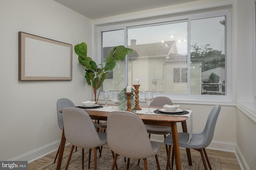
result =
[[[0,160],[58,148],[57,100],[70,98],[79,105],[91,99],[74,52],[74,45],[86,42],[91,55],[91,25],[88,18],[53,0],[0,1]],[[19,82],[18,31],[72,44],[72,81]]]

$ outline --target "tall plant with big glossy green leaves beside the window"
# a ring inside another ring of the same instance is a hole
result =
[[[113,70],[117,61],[122,61],[127,54],[132,53],[133,49],[119,45],[114,47],[110,52],[110,55],[106,57],[106,64],[102,67],[102,64],[96,64],[92,58],[87,56],[87,44],[82,42],[74,47],[76,54],[78,55],[78,61],[85,69],[85,78],[87,84],[90,85],[94,92],[94,101],[98,103],[102,83],[106,79],[108,72]],[[98,97],[97,97],[97,90]]]

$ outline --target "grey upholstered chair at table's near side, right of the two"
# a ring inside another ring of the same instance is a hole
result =
[[[161,144],[150,141],[146,127],[138,115],[126,111],[113,111],[108,114],[108,147],[115,153],[112,170],[116,166],[117,156],[143,159],[144,169],[147,170],[148,157],[155,156],[158,170],[160,170],[157,153]]]

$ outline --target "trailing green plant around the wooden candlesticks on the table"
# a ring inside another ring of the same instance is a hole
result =
[[[126,88],[124,88],[121,92],[119,92],[119,106],[118,109],[122,111],[126,111],[127,109],[127,96],[126,96]],[[132,113],[136,113],[135,108],[135,90],[132,88],[132,95],[131,95],[131,107]]]

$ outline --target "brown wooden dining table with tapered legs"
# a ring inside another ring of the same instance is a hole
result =
[[[98,122],[100,120],[107,121],[108,114],[110,113],[108,111],[96,111],[94,109],[84,109],[84,110],[90,115],[91,119],[97,120]],[[62,111],[60,111],[60,112],[62,112]],[[181,170],[177,123],[178,122],[182,123],[183,132],[187,132],[186,119],[188,117],[149,115],[149,114],[138,114],[138,113],[136,113],[136,115],[138,115],[142,119],[144,124],[170,126],[171,127],[176,170]],[[56,167],[57,170],[60,170],[65,143],[66,143],[66,137],[64,134],[64,127],[63,127],[62,137],[61,137],[61,141],[60,141],[59,156],[58,156],[57,167]],[[186,151],[187,151],[187,156],[188,156],[188,163],[189,163],[189,165],[192,165],[190,150],[186,149]]]

